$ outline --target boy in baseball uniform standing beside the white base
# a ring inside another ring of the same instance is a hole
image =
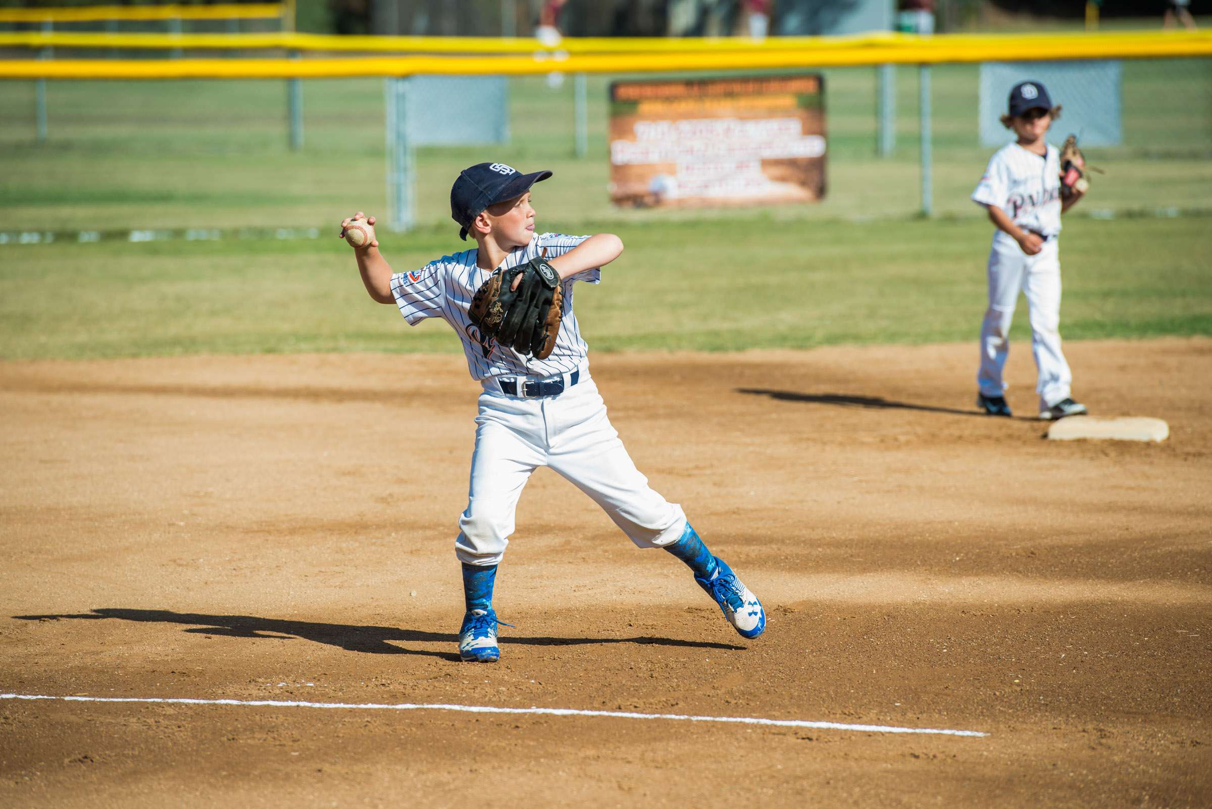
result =
[[[1073,401],[1073,377],[1060,351],[1060,214],[1081,199],[1082,185],[1062,183],[1060,156],[1044,136],[1060,108],[1037,81],[1010,91],[1010,113],[1001,117],[1017,140],[989,160],[972,199],[989,211],[994,231],[989,251],[989,308],[981,327],[977,407],[1010,415],[1002,369],[1010,351],[1010,323],[1018,292],[1027,294],[1031,348],[1039,369],[1040,418],[1059,419],[1086,412]]]

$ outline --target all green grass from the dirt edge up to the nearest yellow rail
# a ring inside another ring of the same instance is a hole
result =
[[[1108,173],[1062,242],[1067,338],[1212,333],[1212,59],[1126,62],[1125,137],[1092,150]],[[804,348],[974,339],[990,225],[968,194],[977,68],[933,71],[934,203],[916,218],[917,79],[898,70],[898,145],[874,155],[875,70],[829,70],[829,193],[790,208],[616,211],[606,196],[606,86],[589,82],[590,154],[572,154],[572,82],[510,82],[511,143],[423,149],[422,226],[382,233],[396,269],[463,247],[448,220],[457,171],[485,159],[553,168],[544,229],[610,230],[628,245],[578,294],[606,350]],[[365,296],[336,223],[383,213],[382,82],[305,82],[307,143],[286,148],[281,82],[63,82],[34,145],[33,86],[0,82],[0,229],[311,226],[320,242],[0,247],[0,356],[245,351],[456,351],[441,325],[408,329]],[[1063,127],[1062,127],[1063,131]],[[1059,138],[1053,138],[1058,140]],[[1114,219],[1088,218],[1110,211]],[[701,291],[688,293],[693,286]],[[721,305],[721,302],[724,305]],[[722,314],[721,314],[722,310]],[[1027,334],[1027,317],[1016,335]]]

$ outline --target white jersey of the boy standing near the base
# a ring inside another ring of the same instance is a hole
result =
[[[1037,155],[1007,143],[989,159],[972,199],[996,205],[1016,225],[1045,236],[1060,233],[1060,151]]]

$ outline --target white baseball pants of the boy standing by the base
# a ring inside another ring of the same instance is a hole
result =
[[[1028,256],[1013,239],[999,231],[989,252],[989,308],[981,327],[981,371],[977,384],[985,396],[1006,390],[1002,369],[1010,354],[1010,323],[1018,293],[1027,296],[1031,321],[1031,351],[1039,379],[1035,392],[1040,409],[1069,397],[1073,374],[1060,350],[1060,259],[1059,240],[1044,242],[1044,249]]]

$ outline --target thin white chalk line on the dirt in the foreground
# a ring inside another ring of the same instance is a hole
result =
[[[293,700],[198,700],[167,696],[53,696],[48,694],[0,694],[4,700],[61,700],[64,702],[155,702],[161,705],[235,705],[240,707],[309,707],[344,708],[351,711],[462,711],[464,713],[532,713],[541,716],[600,716],[613,719],[667,719],[671,722],[731,722],[777,728],[818,728],[823,730],[856,730],[859,733],[917,733],[943,736],[987,736],[979,730],[947,730],[939,728],[898,728],[885,724],[846,724],[842,722],[810,722],[807,719],[762,719],[745,716],[691,716],[687,713],[635,713],[631,711],[583,711],[581,708],[510,708],[490,705],[444,705],[421,702],[303,702]]]

